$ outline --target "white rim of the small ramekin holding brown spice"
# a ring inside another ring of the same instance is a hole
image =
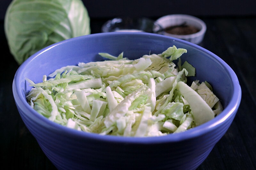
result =
[[[188,35],[177,35],[177,34],[171,34],[171,33],[167,33],[165,31],[163,31],[164,35],[172,36],[172,37],[179,38],[179,39],[191,39],[191,38],[196,38],[196,37],[202,36],[206,32],[207,26],[206,26],[205,22],[202,19],[197,18],[197,17],[192,16],[192,15],[187,15],[187,14],[165,15],[163,17],[158,18],[156,20],[156,23],[158,25],[162,26],[162,28],[164,28],[164,26],[162,25],[163,21],[169,20],[169,19],[179,19],[179,18],[184,19],[184,20],[192,20],[192,21],[200,24],[202,26],[202,28],[200,29],[199,32],[188,34]]]

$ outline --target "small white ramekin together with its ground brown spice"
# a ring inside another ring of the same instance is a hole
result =
[[[186,14],[165,15],[158,18],[156,24],[163,28],[158,33],[195,44],[200,44],[203,41],[206,32],[206,24],[203,20]]]

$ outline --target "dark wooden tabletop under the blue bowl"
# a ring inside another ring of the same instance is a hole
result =
[[[218,55],[236,72],[242,100],[234,122],[198,170],[256,169],[256,17],[200,18],[206,23],[207,31],[199,45]],[[100,33],[107,20],[91,18],[92,33]],[[4,21],[0,23],[0,33],[1,166],[8,170],[56,169],[22,122],[15,106],[12,80],[19,65],[9,52]]]

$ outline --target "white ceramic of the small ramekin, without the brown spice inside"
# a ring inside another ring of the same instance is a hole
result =
[[[178,25],[182,25],[183,23],[186,23],[188,26],[195,26],[197,29],[199,29],[199,32],[186,34],[186,35],[178,35],[178,34],[167,33],[164,31],[166,28],[170,26],[178,26]],[[156,24],[160,25],[163,28],[163,31],[158,32],[159,34],[179,38],[182,40],[192,42],[194,44],[201,43],[204,39],[204,34],[206,32],[206,24],[204,23],[203,20],[191,15],[185,15],[185,14],[165,15],[161,18],[158,18],[156,20]]]

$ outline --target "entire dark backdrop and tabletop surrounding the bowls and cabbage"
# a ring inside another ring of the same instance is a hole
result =
[[[157,19],[182,13],[201,18],[207,31],[199,45],[220,56],[235,71],[242,100],[230,128],[197,170],[256,169],[256,0],[83,2],[91,18],[91,33],[100,33],[101,26],[117,16]],[[4,15],[10,3],[0,0],[0,163],[8,170],[55,170],[21,120],[13,99],[12,81],[19,65],[4,34]]]

